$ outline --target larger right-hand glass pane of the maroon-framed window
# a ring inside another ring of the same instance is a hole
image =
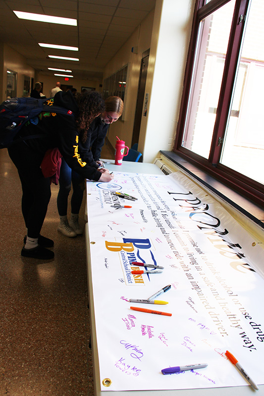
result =
[[[252,0],[220,162],[264,183],[264,1]]]

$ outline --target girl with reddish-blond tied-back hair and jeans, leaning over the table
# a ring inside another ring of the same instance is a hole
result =
[[[108,126],[117,121],[122,115],[124,104],[121,98],[113,96],[106,99],[105,106],[105,111],[91,123],[86,142],[79,144],[82,158],[95,169],[103,165],[103,162],[99,159],[102,147],[104,146]],[[90,149],[91,147],[92,151]],[[71,183],[73,193],[71,197],[71,215],[68,222],[67,208]],[[58,231],[66,237],[76,237],[76,235],[82,234],[78,219],[84,189],[84,178],[71,169],[62,158],[59,174],[59,192],[57,196],[57,208],[60,219]]]

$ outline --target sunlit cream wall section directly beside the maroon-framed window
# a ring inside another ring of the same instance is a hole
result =
[[[195,0],[156,0],[154,28],[142,117],[139,151],[153,162],[159,150],[171,150],[175,140],[183,78]]]

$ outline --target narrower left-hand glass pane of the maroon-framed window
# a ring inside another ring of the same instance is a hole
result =
[[[200,22],[182,147],[209,157],[235,0]]]

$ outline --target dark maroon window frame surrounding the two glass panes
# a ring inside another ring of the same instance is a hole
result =
[[[239,23],[239,18],[240,15],[247,15],[251,0],[236,0],[235,2],[209,158],[204,158],[188,148],[182,147],[199,25],[204,18],[229,1],[230,0],[211,0],[206,4],[206,0],[197,0],[195,3],[183,93],[173,151],[191,163],[194,163],[198,168],[208,172],[233,190],[251,199],[253,202],[264,205],[264,185],[219,163],[222,145],[217,146],[218,139],[224,138],[229,111],[231,110],[230,104],[232,102],[233,85],[236,79],[237,64],[240,60],[241,43],[243,40],[244,28],[246,26],[246,18],[244,18],[241,23]]]

